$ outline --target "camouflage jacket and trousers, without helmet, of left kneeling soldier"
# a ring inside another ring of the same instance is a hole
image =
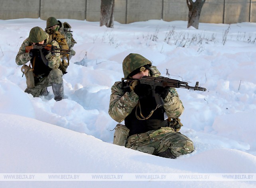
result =
[[[28,38],[24,40],[24,42],[22,43],[20,50],[16,56],[16,64],[17,65],[24,65],[32,59],[32,57],[30,57],[29,53],[26,53],[26,46],[31,46],[31,45],[32,45],[32,43],[30,43],[28,41]],[[59,44],[54,40],[51,41],[51,45],[59,48]],[[59,63],[61,62],[60,54],[55,53],[55,55],[52,55],[51,53],[49,53],[45,56],[45,58],[49,62],[48,67],[50,67],[53,70],[51,70],[51,72],[49,73],[48,76],[46,76],[44,78],[39,78],[39,81],[35,85],[34,88],[25,90],[25,92],[32,94],[34,97],[40,96],[41,91],[45,87],[51,86],[52,83],[60,84],[63,82],[63,80],[62,80],[63,74],[62,74],[61,70],[58,69]]]

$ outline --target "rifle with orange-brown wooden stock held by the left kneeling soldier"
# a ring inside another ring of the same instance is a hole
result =
[[[50,51],[51,53],[60,53],[61,55],[66,55],[70,53],[70,49],[61,49],[61,48],[57,48],[56,46],[50,45],[50,44],[34,44],[33,46],[26,46],[26,53],[30,52],[31,49],[39,49],[40,51],[40,55],[42,58],[43,63],[48,66],[48,61],[45,58],[45,56],[43,55],[42,49],[46,49],[48,51]]]

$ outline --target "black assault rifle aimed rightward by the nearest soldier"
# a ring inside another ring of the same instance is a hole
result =
[[[124,86],[124,80],[127,81],[132,81],[132,80],[136,80],[136,79],[125,79],[122,78],[122,86],[123,88],[128,88],[130,87],[129,84],[127,86]],[[163,99],[161,98],[160,95],[156,94],[155,89],[156,86],[160,86],[160,87],[171,87],[171,88],[185,88],[185,89],[189,89],[189,90],[199,90],[199,91],[206,91],[206,88],[201,88],[198,86],[199,82],[196,82],[195,86],[189,86],[187,82],[183,82],[180,80],[174,80],[171,78],[166,78],[163,76],[159,76],[159,77],[151,77],[151,76],[143,76],[142,78],[139,79],[140,84],[147,84],[150,85],[152,88],[152,96],[156,99],[156,104],[158,105],[158,107],[163,105]]]

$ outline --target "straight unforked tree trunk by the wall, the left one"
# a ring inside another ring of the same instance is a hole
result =
[[[114,0],[101,0],[100,4],[100,26],[114,27]]]

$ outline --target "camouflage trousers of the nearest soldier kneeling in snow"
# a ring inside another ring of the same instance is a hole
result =
[[[194,151],[193,142],[171,127],[131,135],[128,137],[126,147],[144,153],[158,155],[170,149],[175,157],[185,155]]]

